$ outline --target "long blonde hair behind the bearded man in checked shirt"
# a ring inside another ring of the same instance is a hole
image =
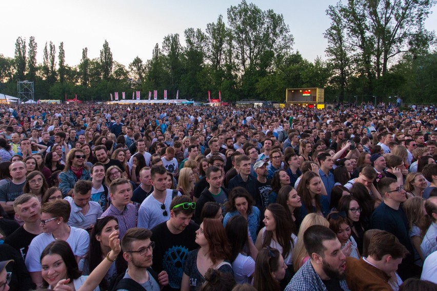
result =
[[[302,220],[301,227],[299,228],[299,234],[297,234],[297,243],[293,249],[293,268],[294,272],[302,266],[303,259],[308,256],[307,250],[304,245],[304,233],[313,225],[323,225],[329,228],[329,222],[320,214],[310,213],[307,214]]]

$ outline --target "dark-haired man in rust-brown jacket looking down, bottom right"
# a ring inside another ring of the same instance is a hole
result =
[[[392,234],[380,231],[370,238],[367,258],[346,258],[346,282],[352,290],[392,290],[391,275],[408,253]]]

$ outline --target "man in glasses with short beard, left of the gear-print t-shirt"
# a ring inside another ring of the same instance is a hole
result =
[[[160,290],[168,285],[167,272],[156,274],[151,268],[155,242],[145,228],[130,228],[122,239],[123,258],[128,263],[123,279],[112,290]]]

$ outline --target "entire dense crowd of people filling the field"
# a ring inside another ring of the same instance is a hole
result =
[[[437,109],[0,109],[0,291],[436,290]]]

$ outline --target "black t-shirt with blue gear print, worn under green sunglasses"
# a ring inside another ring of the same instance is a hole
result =
[[[190,251],[198,247],[194,242],[198,228],[199,226],[193,221],[177,235],[168,230],[167,222],[162,222],[152,228],[150,239],[160,242],[156,243],[153,249],[153,269],[158,274],[161,271],[166,271],[168,274],[169,284],[163,290],[181,289],[185,259]]]

